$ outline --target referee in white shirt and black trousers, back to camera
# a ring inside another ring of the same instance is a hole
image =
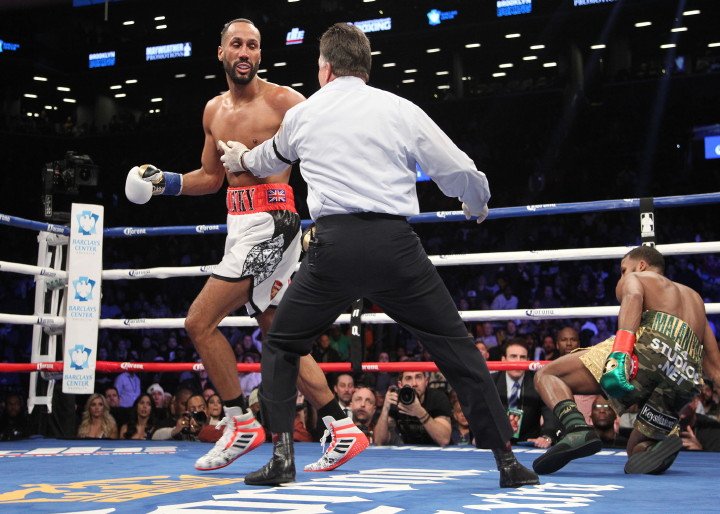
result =
[[[320,90],[287,111],[251,151],[220,142],[226,168],[267,177],[300,161],[316,223],[307,256],[278,306],[262,349],[260,405],[279,434],[273,457],[245,482],[295,479],[292,446],[298,361],[357,298],[368,298],[422,341],[457,391],[478,448],[490,448],[501,487],[539,484],[510,449],[512,429],[487,365],[407,222],[419,213],[416,164],[478,223],[487,179],[419,107],[367,85],[370,42],[337,23],[320,39]]]

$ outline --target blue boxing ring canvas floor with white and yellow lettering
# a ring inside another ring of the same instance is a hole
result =
[[[271,444],[207,473],[193,462],[206,443],[32,439],[0,444],[0,512],[38,513],[607,513],[717,512],[717,453],[681,452],[665,474],[625,475],[622,450],[570,463],[540,486],[500,489],[488,450],[368,448],[326,473],[301,471],[320,454],[296,443],[297,481],[251,487]],[[530,466],[544,450],[515,447]],[[691,502],[690,505],[686,505]],[[620,507],[622,506],[622,507]]]

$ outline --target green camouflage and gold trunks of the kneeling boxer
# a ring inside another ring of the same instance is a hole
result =
[[[612,336],[579,350],[580,360],[598,382],[614,342]],[[635,389],[623,398],[609,398],[611,407],[620,416],[637,405],[635,428],[652,439],[664,439],[677,425],[680,410],[700,392],[702,351],[697,336],[680,318],[643,312],[635,343],[639,369],[630,382]]]

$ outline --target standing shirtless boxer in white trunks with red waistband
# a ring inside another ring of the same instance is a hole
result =
[[[260,66],[260,32],[247,19],[235,19],[222,29],[218,60],[222,62],[228,91],[205,106],[205,145],[201,167],[185,174],[163,172],[152,165],[134,167],[128,173],[125,193],[134,203],[152,195],[204,195],[217,192],[227,179],[227,227],[225,255],[197,296],[185,320],[212,383],[225,403],[222,438],[195,463],[200,470],[227,466],[265,441],[262,426],[247,411],[235,355],[218,324],[242,305],[257,318],[267,333],[275,307],[285,295],[300,255],[300,218],[286,165],[262,179],[225,171],[218,148],[220,140],[235,139],[250,147],[272,137],[285,112],[303,96],[257,76]],[[329,325],[329,323],[328,323]],[[297,387],[321,416],[342,419],[340,407],[327,386],[322,370],[312,357],[300,366]],[[348,420],[349,421],[349,420]],[[352,421],[349,421],[352,423]],[[333,467],[367,447],[359,430],[348,435],[353,453],[335,459]]]

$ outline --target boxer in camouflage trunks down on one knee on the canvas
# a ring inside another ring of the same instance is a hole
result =
[[[720,378],[720,351],[700,295],[665,278],[665,259],[650,246],[628,252],[620,269],[616,335],[560,357],[535,375],[536,389],[564,429],[555,446],[533,463],[540,474],[602,449],[572,396],[601,390],[618,416],[632,405],[640,407],[625,473],[662,473],[682,448],[676,435],[679,412],[700,390],[703,371]]]

